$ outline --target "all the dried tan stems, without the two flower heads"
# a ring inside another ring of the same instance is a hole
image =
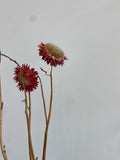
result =
[[[0,51],[0,62],[1,62],[1,56],[8,58],[10,61],[14,62],[18,66],[19,63],[15,61],[14,59],[8,57],[7,55],[1,53]],[[52,101],[53,101],[53,80],[52,80],[52,67],[50,70],[50,74],[47,74],[46,71],[41,69],[43,72],[45,72],[46,75],[50,77],[50,85],[51,85],[51,93],[50,93],[50,105],[49,105],[49,112],[47,115],[46,111],[46,103],[44,98],[44,92],[43,92],[43,86],[41,78],[39,78],[40,81],[40,87],[41,87],[41,93],[42,93],[42,100],[43,100],[43,107],[44,107],[44,114],[45,114],[45,133],[44,133],[44,144],[43,144],[43,154],[42,154],[42,160],[46,160],[46,148],[47,148],[47,138],[48,138],[48,128],[50,124],[50,118],[51,118],[51,112],[52,112]],[[31,94],[30,92],[27,92],[24,88],[24,95],[25,95],[25,115],[26,115],[26,121],[27,121],[27,130],[28,130],[28,147],[29,147],[29,159],[30,160],[38,160],[38,157],[35,157],[33,145],[32,145],[32,138],[31,138]],[[1,81],[0,81],[0,147],[2,151],[2,155],[4,160],[8,160],[5,145],[3,145],[2,140],[2,115],[3,115],[3,101],[2,101],[2,93],[1,93]]]

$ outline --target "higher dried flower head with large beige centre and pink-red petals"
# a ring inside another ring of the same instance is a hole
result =
[[[62,49],[52,43],[41,43],[38,47],[39,55],[42,56],[42,59],[51,66],[62,66],[64,64],[64,60],[67,60]]]

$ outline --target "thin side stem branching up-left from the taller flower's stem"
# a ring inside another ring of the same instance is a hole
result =
[[[46,104],[45,104],[43,86],[42,86],[41,78],[39,76],[38,76],[38,78],[39,78],[39,81],[40,81],[40,87],[41,87],[41,92],[42,92],[42,100],[43,100],[43,107],[44,107],[44,114],[45,114],[45,120],[46,120],[46,125],[47,125],[47,111],[46,111]]]

